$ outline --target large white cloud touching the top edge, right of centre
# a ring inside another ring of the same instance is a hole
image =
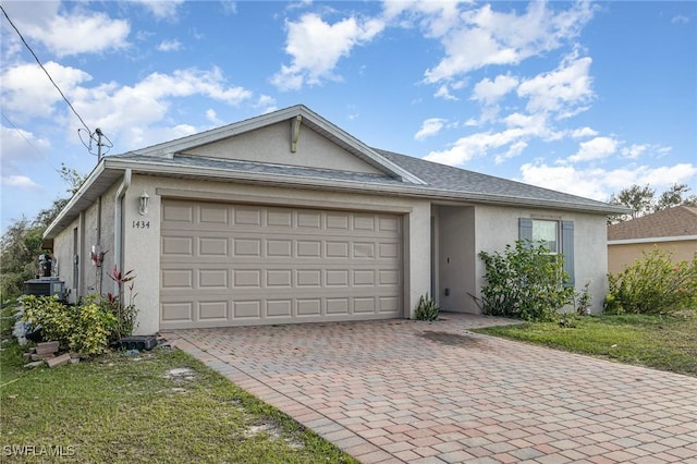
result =
[[[420,4],[420,3],[419,3]],[[546,2],[530,2],[524,14],[500,13],[487,4],[463,11],[458,22],[430,33],[441,39],[445,57],[425,73],[427,83],[448,82],[454,76],[492,64],[521,61],[559,48],[576,37],[592,17],[588,2],[552,11]]]

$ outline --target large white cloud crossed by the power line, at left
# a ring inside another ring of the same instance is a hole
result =
[[[90,130],[101,127],[121,151],[194,133],[192,125],[178,125],[170,119],[176,99],[203,97],[237,106],[253,98],[250,90],[229,85],[217,68],[152,73],[133,86],[111,82],[86,87],[89,74],[52,62],[46,66]],[[10,68],[1,77],[3,112],[10,110],[17,123],[50,119],[51,124],[65,126],[66,134],[74,138],[77,120],[37,65]],[[259,97],[259,105],[268,107],[272,102],[271,98]],[[7,156],[3,152],[2,158]]]

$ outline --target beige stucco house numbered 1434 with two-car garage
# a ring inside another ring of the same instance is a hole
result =
[[[147,208],[142,203],[149,200]],[[607,291],[610,206],[370,148],[304,106],[102,158],[46,231],[71,298],[134,270],[139,333],[479,313],[480,251],[546,240]],[[107,252],[103,269],[90,251]]]

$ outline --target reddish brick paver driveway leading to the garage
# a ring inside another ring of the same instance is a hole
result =
[[[697,462],[697,378],[444,318],[166,337],[365,463]]]

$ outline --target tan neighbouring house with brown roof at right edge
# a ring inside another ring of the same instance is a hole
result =
[[[697,252],[697,208],[674,206],[608,225],[608,271],[617,273],[653,246],[690,261]]]

